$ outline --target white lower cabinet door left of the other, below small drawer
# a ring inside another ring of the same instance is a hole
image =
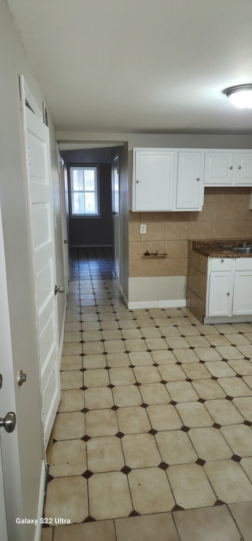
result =
[[[231,299],[231,271],[210,272],[207,315],[230,315]]]

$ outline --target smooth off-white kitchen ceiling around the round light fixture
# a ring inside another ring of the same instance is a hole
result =
[[[251,134],[251,0],[8,0],[58,130]]]

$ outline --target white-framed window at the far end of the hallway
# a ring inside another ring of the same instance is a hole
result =
[[[100,217],[99,167],[70,165],[71,217]]]

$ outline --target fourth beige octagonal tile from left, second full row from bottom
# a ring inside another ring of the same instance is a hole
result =
[[[182,430],[158,432],[155,439],[162,460],[169,465],[195,462],[198,458],[188,435]]]

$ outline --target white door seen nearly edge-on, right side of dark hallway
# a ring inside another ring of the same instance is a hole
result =
[[[112,162],[112,234],[114,273],[120,280],[120,241],[119,241],[119,162],[118,155]]]

